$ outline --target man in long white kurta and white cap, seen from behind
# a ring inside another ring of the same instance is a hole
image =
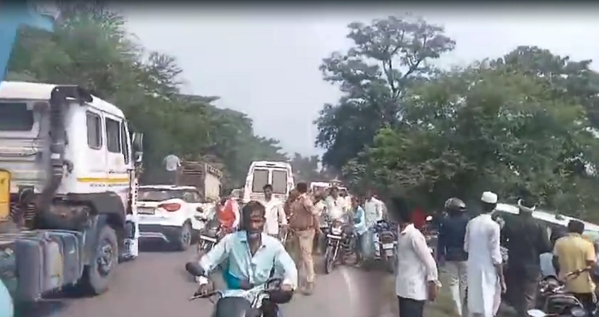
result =
[[[468,254],[468,311],[473,317],[493,317],[505,292],[500,251],[500,226],[491,218],[497,194],[483,192],[483,214],[469,221],[464,238]]]

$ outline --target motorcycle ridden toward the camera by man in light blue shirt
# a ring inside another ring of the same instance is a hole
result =
[[[214,317],[282,317],[277,304],[271,302],[270,292],[280,288],[283,279],[271,278],[251,290],[216,290],[207,294],[193,294],[190,301],[195,299],[210,299],[218,296]]]

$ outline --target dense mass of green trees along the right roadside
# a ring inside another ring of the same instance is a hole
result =
[[[391,20],[399,19],[385,21]],[[429,49],[438,53],[428,58],[453,47],[436,30],[445,44]],[[362,35],[357,45],[397,32]],[[326,60],[334,74],[326,80],[341,82],[346,95],[337,106],[324,106],[316,142],[327,149],[326,163],[342,164],[355,190],[400,192],[431,209],[449,197],[478,200],[484,190],[504,201],[533,195],[544,209],[599,220],[599,134],[593,130],[599,127],[599,75],[589,69],[591,61],[520,46],[468,68],[424,70],[394,94],[385,63],[366,67],[350,60],[339,57],[344,66],[335,71]],[[360,99],[357,91],[376,98]],[[345,157],[335,161],[338,155]]]

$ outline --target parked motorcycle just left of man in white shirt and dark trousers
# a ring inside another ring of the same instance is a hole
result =
[[[374,258],[382,261],[389,273],[395,274],[397,263],[397,234],[388,220],[378,220],[374,225]]]

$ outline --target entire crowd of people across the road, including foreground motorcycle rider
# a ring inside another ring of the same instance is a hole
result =
[[[363,199],[350,198],[340,194],[336,187],[331,187],[326,194],[309,192],[308,185],[300,182],[286,201],[278,201],[272,196],[272,187],[266,185],[264,201],[251,201],[242,213],[234,211],[235,199],[223,200],[219,217],[231,225],[231,230],[240,223],[241,231],[228,235],[226,241],[217,244],[216,251],[204,256],[200,263],[210,271],[218,261],[227,258],[226,252],[235,252],[236,248],[247,245],[245,242],[257,239],[271,250],[269,255],[262,255],[266,259],[262,271],[271,275],[279,271],[287,281],[285,290],[297,287],[304,294],[311,294],[316,282],[313,253],[320,249],[319,236],[324,223],[331,220],[351,223],[359,242],[359,261],[363,261],[371,254],[372,225],[391,218],[397,223],[396,293],[402,317],[423,316],[426,302],[436,299],[442,287],[438,267],[444,267],[449,275],[447,287],[460,316],[497,316],[502,295],[510,287],[510,304],[518,317],[524,317],[536,304],[538,281],[548,274],[546,271],[563,278],[566,273],[596,266],[595,246],[583,237],[581,221],[572,220],[567,232],[553,230],[548,237],[546,228],[532,216],[535,207],[531,201],[518,202],[519,219],[510,226],[505,226],[505,221],[495,212],[497,203],[497,194],[484,192],[482,212],[472,217],[464,201],[448,199],[443,216],[437,221],[435,257],[428,249],[424,230],[416,225],[422,218],[421,211],[410,209],[401,197],[392,198],[385,205],[372,192]],[[244,230],[252,234],[240,233]],[[287,230],[292,232],[291,255],[278,242],[280,233]],[[249,247],[249,254],[259,254],[257,249],[252,249],[252,244]],[[502,249],[507,250],[507,254]],[[248,252],[239,254],[247,256]],[[550,261],[549,267],[547,261]],[[229,287],[247,289],[264,282],[268,274],[259,274],[255,268],[250,274],[252,270],[243,268],[246,262],[235,256],[228,258],[230,273],[237,279],[228,283]],[[252,263],[261,262],[252,260]],[[297,282],[298,268],[305,272],[301,282]],[[565,280],[565,285],[589,310],[593,309],[595,285],[591,273],[586,271]]]

